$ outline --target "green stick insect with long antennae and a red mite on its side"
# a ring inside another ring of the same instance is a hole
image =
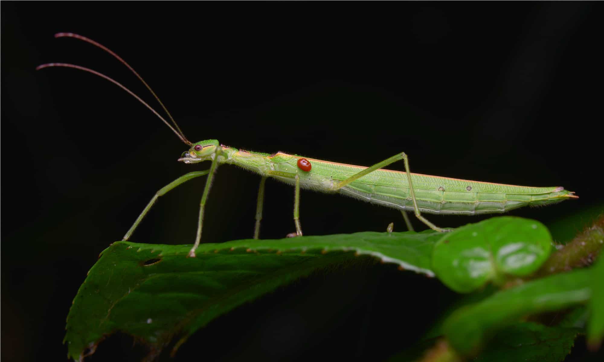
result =
[[[448,230],[435,226],[422,216],[422,212],[428,214],[457,215],[496,214],[527,205],[549,205],[562,202],[567,198],[577,198],[577,196],[574,195],[574,192],[567,191],[561,186],[527,187],[414,174],[409,170],[409,159],[404,152],[398,153],[382,162],[378,162],[371,167],[361,167],[295,156],[283,152],[268,154],[243,151],[222,145],[216,139],[208,139],[206,141],[193,143],[188,141],[184,136],[184,133],[182,133],[181,129],[176,124],[176,121],[172,118],[172,115],[170,115],[170,112],[168,112],[164,104],[161,103],[151,87],[130,65],[128,65],[128,63],[121,59],[121,57],[94,40],[78,34],[58,33],[55,37],[72,37],[84,40],[85,42],[91,43],[92,45],[109,52],[109,54],[120,60],[120,62],[137,75],[147,89],[150,90],[153,97],[158,100],[162,109],[164,109],[172,120],[174,127],[149,106],[149,104],[145,103],[129,89],[97,71],[67,63],[48,63],[40,65],[36,69],[54,66],[75,68],[90,72],[111,81],[126,90],[126,92],[133,97],[137,98],[138,101],[143,103],[144,106],[149,108],[159,117],[159,119],[170,127],[172,132],[174,132],[182,142],[190,146],[187,151],[181,154],[181,157],[178,159],[179,161],[184,162],[185,164],[198,164],[199,162],[204,161],[211,162],[209,170],[187,173],[156,192],[132,227],[130,227],[130,230],[124,235],[123,240],[128,240],[132,236],[134,230],[138,227],[147,212],[149,212],[149,209],[152,208],[153,204],[160,196],[176,186],[181,185],[181,183],[207,175],[208,177],[205,181],[204,191],[199,204],[197,235],[195,237],[195,243],[188,253],[188,257],[194,257],[195,250],[201,241],[205,202],[210,193],[210,186],[214,173],[216,173],[216,168],[221,164],[237,165],[246,170],[260,174],[262,177],[260,179],[256,206],[254,239],[259,238],[260,235],[260,220],[262,220],[262,205],[267,177],[272,177],[273,179],[294,185],[294,224],[296,231],[295,233],[288,235],[291,237],[302,235],[299,212],[300,188],[321,192],[339,192],[365,202],[399,209],[410,230],[413,230],[413,227],[405,212],[413,211],[420,221],[431,229],[439,232],[446,232]],[[399,160],[403,160],[405,164],[404,172],[382,169],[382,167],[386,167]]]

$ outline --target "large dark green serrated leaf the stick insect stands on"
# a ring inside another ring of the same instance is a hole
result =
[[[67,319],[68,355],[92,354],[114,332],[125,332],[160,351],[173,337],[179,344],[212,319],[280,285],[356,255],[433,276],[432,248],[441,233],[362,232],[283,240],[239,240],[190,245],[118,241],[83,282]]]

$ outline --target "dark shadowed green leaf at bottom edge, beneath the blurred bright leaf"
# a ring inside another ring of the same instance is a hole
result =
[[[498,332],[473,362],[561,362],[570,354],[578,328],[524,322]]]

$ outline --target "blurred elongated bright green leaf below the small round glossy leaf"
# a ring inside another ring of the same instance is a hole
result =
[[[461,354],[475,354],[495,332],[522,316],[556,311],[584,303],[591,295],[594,273],[574,270],[500,291],[446,320],[443,330]]]

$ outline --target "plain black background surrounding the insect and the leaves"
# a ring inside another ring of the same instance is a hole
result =
[[[156,105],[117,60],[59,31],[124,57],[191,141],[358,165],[405,151],[416,173],[580,195],[512,212],[545,224],[602,202],[596,3],[120,4],[2,3],[2,358],[62,360],[65,316],[98,253],[156,190],[204,167],[176,162],[187,147],[108,81],[34,71],[88,66]],[[203,241],[251,237],[258,182],[219,168]],[[203,183],[162,198],[132,241],[191,243]],[[269,180],[262,238],[294,230],[292,205],[292,189]],[[391,221],[404,230],[392,209],[301,194],[306,235]],[[413,345],[453,295],[393,265],[318,273],[214,320],[177,359],[379,360]],[[142,353],[117,336],[91,360]]]

